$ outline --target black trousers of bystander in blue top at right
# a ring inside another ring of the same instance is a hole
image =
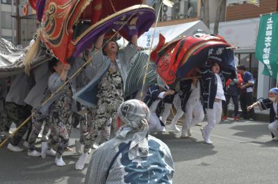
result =
[[[253,92],[249,93],[240,93],[240,107],[243,111],[243,118],[249,119],[249,118],[255,118],[255,112],[254,109],[251,111],[247,111],[247,107],[253,104]]]

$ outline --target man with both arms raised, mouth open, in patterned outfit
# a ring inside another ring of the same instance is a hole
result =
[[[83,154],[76,162],[76,169],[83,169],[88,151],[97,136],[100,135],[102,137],[101,142],[105,142],[110,138],[111,129],[113,135],[117,131],[115,126],[117,107],[124,102],[124,83],[133,66],[131,60],[137,53],[137,39],[138,35],[133,35],[131,43],[122,50],[119,50],[115,41],[107,42],[103,50],[99,50],[103,45],[104,35],[101,35],[95,42],[95,48],[92,51],[92,64],[95,65],[95,68],[101,68],[104,65],[108,67],[98,82],[97,98],[99,100],[96,104],[95,119],[88,126],[89,134],[85,140]]]

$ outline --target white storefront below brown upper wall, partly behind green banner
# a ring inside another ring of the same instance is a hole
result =
[[[213,24],[211,30],[213,30]],[[246,67],[255,80],[254,98],[266,98],[268,90],[275,86],[275,82],[270,77],[262,75],[263,64],[255,57],[256,37],[259,27],[259,18],[244,19],[239,21],[227,21],[220,23],[219,35],[238,47],[235,50],[235,56],[238,57],[238,64]]]

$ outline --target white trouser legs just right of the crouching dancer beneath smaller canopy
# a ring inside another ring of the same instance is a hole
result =
[[[181,110],[181,98],[179,98],[178,94],[174,95],[173,104],[174,104],[174,109],[177,110],[177,113],[174,116],[171,123],[176,124],[178,122],[179,118],[181,118],[183,116],[183,111]],[[165,103],[164,112],[163,112],[163,116],[162,116],[162,122],[164,124],[166,124],[166,120],[167,120],[168,116],[170,115],[171,107],[172,107],[172,104]]]

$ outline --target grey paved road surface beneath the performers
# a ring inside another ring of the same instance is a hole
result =
[[[73,145],[78,131],[71,138]],[[173,183],[278,183],[278,142],[271,141],[265,122],[220,122],[213,129],[213,145],[203,143],[199,127],[193,136],[157,134],[170,147],[176,172]],[[39,146],[39,144],[38,144]],[[74,170],[78,156],[67,152],[67,166],[54,158],[31,158],[0,149],[0,183],[82,183],[86,169]]]

